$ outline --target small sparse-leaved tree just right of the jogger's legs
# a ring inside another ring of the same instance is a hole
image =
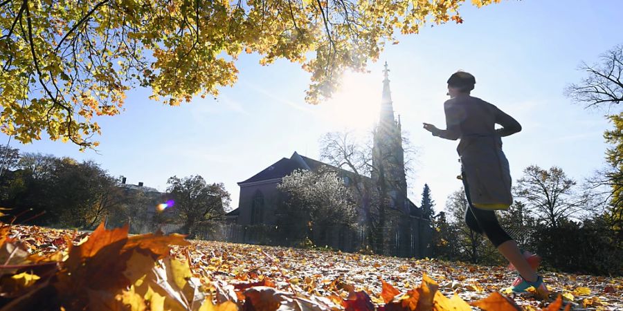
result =
[[[537,220],[556,228],[563,220],[579,218],[593,209],[588,195],[577,191],[576,184],[559,167],[541,169],[531,165],[517,180],[514,194],[525,201]]]

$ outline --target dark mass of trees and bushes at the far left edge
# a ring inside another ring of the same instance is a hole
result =
[[[116,181],[92,161],[77,162],[40,153],[24,153],[15,171],[7,171],[0,201],[33,223],[90,228],[121,200]]]

